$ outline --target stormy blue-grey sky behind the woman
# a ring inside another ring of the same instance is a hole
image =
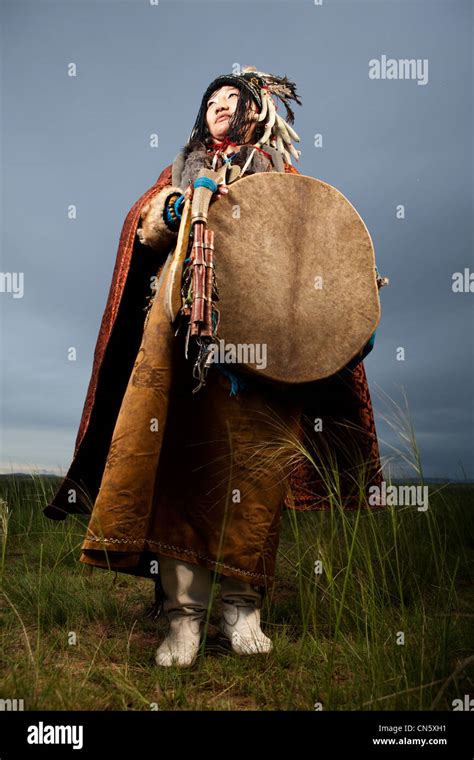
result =
[[[414,474],[386,419],[406,396],[425,476],[474,477],[474,293],[452,291],[474,271],[469,0],[15,0],[1,15],[1,269],[24,293],[0,292],[0,471],[69,466],[124,218],[240,64],[297,83],[298,169],[346,195],[390,278],[365,363],[387,469]],[[427,83],[369,78],[382,56],[426,59]]]

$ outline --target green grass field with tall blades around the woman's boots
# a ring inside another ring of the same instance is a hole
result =
[[[179,670],[154,664],[166,621],[147,616],[153,584],[79,563],[86,517],[43,516],[58,482],[0,478],[1,698],[25,710],[451,710],[472,694],[474,486],[431,486],[426,512],[285,512],[262,614],[274,651],[233,654],[216,604],[202,655]]]

